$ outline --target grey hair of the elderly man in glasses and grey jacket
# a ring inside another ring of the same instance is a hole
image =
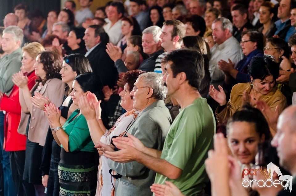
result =
[[[167,96],[167,89],[162,84],[162,74],[156,72],[147,72],[141,74],[138,80],[142,78],[145,86],[153,89],[152,97],[157,100],[164,100]]]

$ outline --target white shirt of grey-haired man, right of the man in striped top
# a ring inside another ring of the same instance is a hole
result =
[[[213,84],[216,89],[218,89],[218,85],[223,85],[225,76],[224,72],[219,69],[218,62],[221,59],[228,62],[228,58],[235,65],[244,58],[241,45],[233,36],[220,45],[215,44],[211,49],[211,59],[209,61],[210,84]]]

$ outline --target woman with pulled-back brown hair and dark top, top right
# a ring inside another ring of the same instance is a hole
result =
[[[258,29],[265,38],[271,38],[275,31],[277,31],[277,27],[272,22],[273,18],[273,10],[274,5],[272,2],[266,1],[264,2],[259,9],[259,22],[263,24],[262,27]]]

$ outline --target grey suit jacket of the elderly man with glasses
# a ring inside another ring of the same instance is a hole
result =
[[[158,100],[145,108],[132,122],[128,133],[137,137],[142,143],[153,149],[162,150],[172,119],[163,100]],[[132,161],[118,163],[108,160],[111,169],[121,174],[115,183],[115,195],[152,195],[150,186],[154,183],[155,172],[141,163]]]

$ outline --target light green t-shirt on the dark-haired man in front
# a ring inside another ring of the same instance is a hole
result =
[[[215,131],[214,114],[206,99],[198,98],[181,109],[164,141],[161,158],[182,169],[182,174],[175,180],[156,174],[155,183],[170,181],[182,194],[201,194],[208,182],[204,161],[213,149]]]

